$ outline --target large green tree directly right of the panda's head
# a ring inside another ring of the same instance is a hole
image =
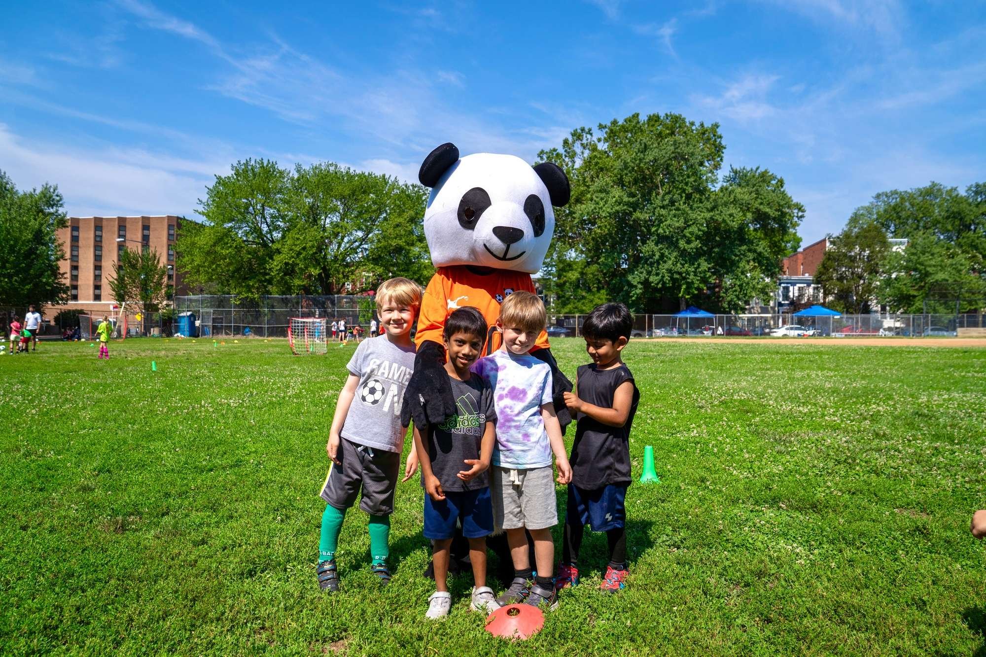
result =
[[[539,154],[572,185],[570,203],[555,210],[543,277],[559,312],[603,300],[643,312],[735,312],[769,294],[804,216],[783,179],[731,169],[720,184],[716,123],[635,113],[598,130],[573,130]]]

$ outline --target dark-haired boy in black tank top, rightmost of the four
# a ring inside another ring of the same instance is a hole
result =
[[[626,306],[609,303],[593,309],[582,328],[593,362],[579,368],[577,393],[565,393],[578,429],[569,459],[572,482],[555,579],[559,590],[579,583],[579,547],[586,525],[605,532],[609,544],[609,564],[599,588],[614,593],[625,586],[624,500],[630,484],[630,426],[640,391],[620,355],[632,327]]]

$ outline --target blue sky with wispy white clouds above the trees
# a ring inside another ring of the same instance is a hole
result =
[[[533,161],[676,111],[785,179],[808,244],[880,190],[986,180],[984,42],[971,1],[14,3],[0,169],[72,215],[194,216],[246,157],[414,181],[445,141]]]

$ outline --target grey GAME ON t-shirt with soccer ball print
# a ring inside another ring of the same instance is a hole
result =
[[[339,433],[346,440],[387,452],[404,449],[400,403],[414,370],[414,345],[399,347],[387,335],[369,337],[356,347],[346,369],[360,378]]]

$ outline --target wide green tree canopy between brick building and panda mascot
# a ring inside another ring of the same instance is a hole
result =
[[[178,263],[188,285],[247,298],[337,294],[357,278],[367,288],[396,275],[422,281],[432,272],[424,204],[423,187],[387,176],[246,160],[199,200],[205,223],[182,225]]]

